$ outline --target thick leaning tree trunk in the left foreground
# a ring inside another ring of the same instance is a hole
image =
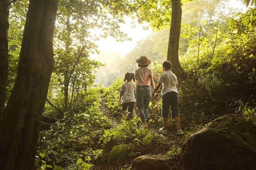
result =
[[[0,124],[1,169],[35,169],[42,113],[53,69],[58,0],[30,0],[17,77]]]

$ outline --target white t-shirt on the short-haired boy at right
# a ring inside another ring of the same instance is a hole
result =
[[[178,80],[176,75],[172,73],[171,70],[167,70],[163,74],[161,74],[158,83],[163,84],[162,95],[166,94],[167,92],[178,93],[178,89],[176,88]]]

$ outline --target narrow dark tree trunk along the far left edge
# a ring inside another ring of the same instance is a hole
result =
[[[0,122],[4,115],[8,73],[9,0],[0,1]]]

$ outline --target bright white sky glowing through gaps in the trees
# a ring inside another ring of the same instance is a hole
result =
[[[246,11],[246,6],[240,0],[229,0],[226,3],[232,8],[237,8],[237,11],[239,12]],[[183,12],[185,14],[185,11]],[[109,83],[106,83],[106,81],[109,81],[106,80],[106,77],[108,77],[107,74],[117,76],[119,73],[116,72],[119,67],[116,61],[123,59],[127,53],[131,52],[133,48],[136,47],[138,41],[142,41],[148,36],[154,34],[150,27],[149,30],[143,29],[143,26],[149,26],[148,24],[140,25],[136,23],[136,26],[133,27],[134,25],[132,24],[132,19],[128,17],[125,18],[125,22],[125,24],[120,24],[120,30],[124,33],[127,33],[128,37],[132,38],[132,41],[120,42],[116,41],[113,37],[107,37],[106,39],[100,37],[100,40],[95,42],[98,45],[98,50],[100,51],[100,54],[92,54],[90,55],[90,58],[106,64],[105,67],[100,67],[100,70],[98,70],[98,74],[96,74],[95,84],[100,83],[103,86],[108,86]],[[95,34],[100,34],[99,31],[97,32],[94,30],[94,32]],[[139,57],[140,56],[138,56],[138,58]],[[135,61],[131,62],[136,65]],[[113,80],[115,78],[113,76]]]

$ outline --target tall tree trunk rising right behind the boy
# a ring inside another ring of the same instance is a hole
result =
[[[172,72],[181,80],[185,79],[185,73],[179,61],[179,40],[181,27],[181,1],[171,0],[172,2],[172,21],[167,50],[167,60],[172,63]]]

